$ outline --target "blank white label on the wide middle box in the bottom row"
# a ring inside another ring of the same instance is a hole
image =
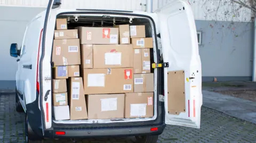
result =
[[[101,100],[101,111],[116,111],[117,98],[106,98]]]

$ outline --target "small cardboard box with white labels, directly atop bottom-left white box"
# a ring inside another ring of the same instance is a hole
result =
[[[67,92],[53,94],[53,106],[66,106],[68,105],[68,94]]]

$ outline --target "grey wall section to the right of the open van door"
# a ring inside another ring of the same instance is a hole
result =
[[[199,54],[203,81],[251,80],[253,53],[252,22],[196,20],[202,31]]]

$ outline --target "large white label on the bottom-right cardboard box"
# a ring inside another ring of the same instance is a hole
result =
[[[131,104],[131,116],[146,116],[147,104]]]

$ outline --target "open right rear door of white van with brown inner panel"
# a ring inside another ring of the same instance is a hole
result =
[[[165,123],[200,128],[202,72],[197,32],[187,1],[172,1],[156,11],[164,68]]]

